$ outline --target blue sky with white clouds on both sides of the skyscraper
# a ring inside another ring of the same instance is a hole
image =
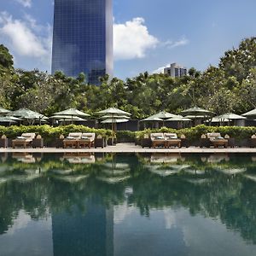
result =
[[[0,44],[15,67],[50,70],[53,0],[0,0]],[[256,35],[255,0],[113,0],[114,75],[125,79],[168,63],[206,69]]]

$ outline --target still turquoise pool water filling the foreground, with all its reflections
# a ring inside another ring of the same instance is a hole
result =
[[[256,156],[1,154],[0,255],[256,255]]]

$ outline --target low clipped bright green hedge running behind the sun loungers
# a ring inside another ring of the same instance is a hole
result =
[[[102,137],[112,137],[113,131],[105,129],[93,129],[84,125],[66,125],[66,126],[49,126],[49,125],[31,125],[31,126],[0,126],[0,136],[3,134],[9,138],[15,138],[20,136],[24,132],[36,132],[44,137],[44,140],[49,142],[60,135],[65,137],[69,132],[95,132],[97,135],[102,135]],[[144,131],[117,131],[116,137],[119,143],[131,143],[135,142],[136,139],[141,139],[145,134],[150,134],[151,132],[175,132],[177,136],[180,137],[182,134],[185,135],[189,141],[198,140],[202,134],[207,132],[220,132],[222,136],[228,134],[230,137],[234,137],[237,140],[247,139],[253,134],[256,134],[256,127],[241,127],[241,126],[206,126],[198,125],[192,128],[184,128],[180,130],[170,129],[162,127],[160,129],[154,130],[144,130]]]

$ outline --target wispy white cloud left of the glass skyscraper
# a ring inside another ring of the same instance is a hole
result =
[[[36,20],[26,15],[25,20],[15,20],[5,12],[0,14],[0,33],[17,55],[49,61],[51,52],[51,27],[38,26]]]

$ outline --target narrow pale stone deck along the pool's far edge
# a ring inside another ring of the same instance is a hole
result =
[[[142,148],[132,143],[119,143],[106,148],[0,148],[0,153],[175,153],[214,154],[243,153],[256,154],[256,148]]]

